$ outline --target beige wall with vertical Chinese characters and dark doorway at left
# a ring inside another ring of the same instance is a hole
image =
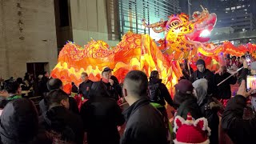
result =
[[[53,0],[0,0],[0,31],[0,78],[56,65]]]

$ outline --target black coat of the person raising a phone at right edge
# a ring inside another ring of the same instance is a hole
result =
[[[246,98],[236,95],[230,98],[222,114],[222,129],[234,143],[255,143],[256,118],[242,119]]]

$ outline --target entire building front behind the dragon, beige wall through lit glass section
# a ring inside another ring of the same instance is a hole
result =
[[[167,20],[178,7],[178,0],[0,0],[0,78],[50,72],[67,41],[116,46],[129,30],[163,38],[142,19]]]

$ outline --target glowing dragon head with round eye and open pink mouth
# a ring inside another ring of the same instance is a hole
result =
[[[207,38],[206,34],[210,34],[214,29],[216,21],[216,14],[209,14],[208,10],[202,7],[202,12],[194,12],[192,20],[182,13],[172,14],[168,21],[161,20],[154,24],[142,22],[143,26],[152,28],[154,32],[165,32],[166,53],[171,54],[174,50],[190,51],[195,44],[209,41],[210,38]]]

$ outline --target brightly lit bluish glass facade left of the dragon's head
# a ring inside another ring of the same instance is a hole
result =
[[[167,20],[171,14],[177,14],[178,0],[118,0],[120,36],[132,31],[137,34],[150,34],[156,40],[164,34],[154,33],[153,30],[142,26],[142,19],[148,23]]]

